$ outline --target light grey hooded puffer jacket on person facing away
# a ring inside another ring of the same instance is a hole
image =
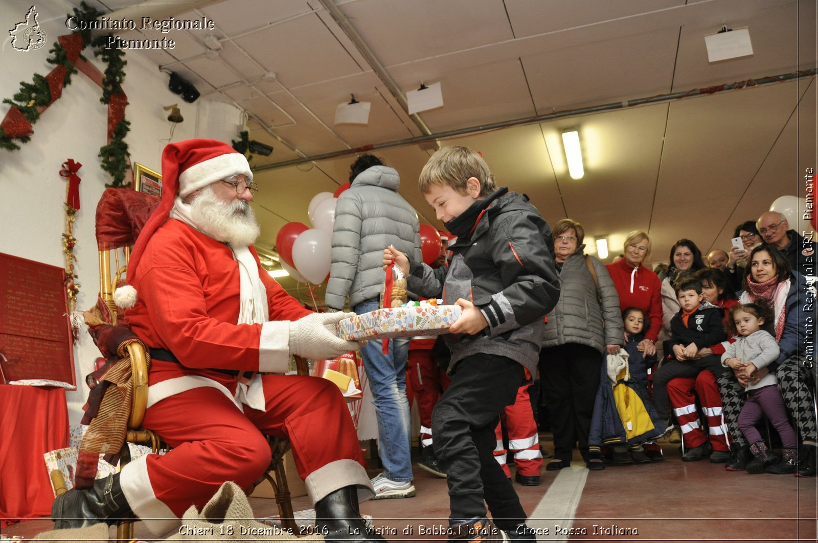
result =
[[[398,194],[398,172],[373,166],[359,173],[335,205],[332,266],[325,303],[341,309],[378,298],[384,285],[384,249],[393,245],[420,261],[420,222]]]

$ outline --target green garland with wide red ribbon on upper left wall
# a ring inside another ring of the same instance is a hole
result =
[[[74,8],[74,17],[79,21],[91,21],[97,18],[93,14],[97,11],[85,2],[80,4],[79,10]],[[89,25],[79,24],[79,27],[88,28]],[[33,125],[38,121],[43,111],[47,110],[62,96],[62,89],[70,85],[71,75],[77,73],[77,65],[87,67],[88,62],[80,52],[92,45],[94,56],[101,58],[107,67],[101,81],[97,81],[102,88],[100,101],[108,105],[108,134],[106,145],[99,152],[101,168],[113,177],[114,182],[106,186],[127,186],[125,182],[130,173],[130,155],[125,136],[130,130],[130,123],[125,120],[125,106],[128,97],[122,90],[125,79],[124,52],[115,48],[106,48],[106,37],[91,38],[90,30],[77,30],[72,34],[65,34],[57,38],[51,53],[46,60],[56,67],[46,76],[34,74],[32,83],[20,82],[20,91],[14,96],[6,98],[3,103],[11,105],[6,117],[0,123],[0,149],[18,150],[20,143],[28,143],[34,133]],[[93,77],[93,70],[83,70],[89,77]],[[96,79],[95,79],[96,80]]]

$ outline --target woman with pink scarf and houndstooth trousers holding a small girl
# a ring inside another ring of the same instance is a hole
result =
[[[768,468],[771,473],[793,473],[797,477],[816,474],[816,417],[813,411],[811,387],[813,379],[804,362],[813,357],[812,343],[808,342],[807,319],[811,311],[804,309],[808,286],[803,277],[790,269],[780,251],[769,245],[757,245],[748,258],[748,273],[744,276],[744,292],[740,303],[765,299],[775,314],[775,341],[780,348],[778,360],[770,366],[747,376],[742,368],[727,371],[718,379],[724,416],[733,438],[733,451],[726,469],[740,471],[751,460],[747,440],[739,431],[739,413],[744,406],[744,387],[749,381],[757,382],[768,372],[778,379],[778,388],[784,404],[795,419],[802,440],[798,458],[789,458]],[[745,361],[750,362],[750,361]],[[793,467],[795,469],[793,469]]]

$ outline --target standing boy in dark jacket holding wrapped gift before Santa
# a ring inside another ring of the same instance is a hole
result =
[[[500,412],[537,369],[543,318],[560,298],[551,227],[528,198],[497,189],[483,157],[465,147],[438,150],[420,172],[420,192],[457,240],[449,265],[433,270],[393,259],[409,289],[463,308],[444,336],[452,384],[432,413],[434,449],[447,473],[450,540],[498,537],[483,500],[508,536],[534,541],[519,498],[492,451]]]

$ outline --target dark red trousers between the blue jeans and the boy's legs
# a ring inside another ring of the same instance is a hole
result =
[[[417,399],[417,412],[420,416],[420,442],[424,447],[432,444],[432,410],[438,403],[440,395],[452,383],[446,372],[434,360],[431,348],[413,348],[414,340],[409,343],[407,368],[408,388]],[[432,340],[434,343],[434,339]],[[409,398],[411,405],[411,397]]]

